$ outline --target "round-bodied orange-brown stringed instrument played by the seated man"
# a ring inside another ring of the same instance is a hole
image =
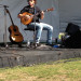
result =
[[[54,10],[54,9],[52,8],[52,9],[44,10],[43,12],[49,12],[49,11],[53,11],[53,10]],[[30,24],[30,23],[32,22],[33,17],[35,17],[36,15],[38,15],[38,14],[39,14],[39,13],[36,13],[36,14],[33,15],[33,14],[31,14],[31,13],[24,12],[24,13],[23,13],[23,16],[21,17],[22,24],[24,24],[24,25]],[[26,15],[29,15],[30,18],[27,18]]]

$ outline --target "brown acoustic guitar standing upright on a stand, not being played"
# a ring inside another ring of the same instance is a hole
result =
[[[8,9],[6,9],[6,13],[9,13],[10,19],[12,22],[12,25],[9,27],[10,41],[15,42],[15,43],[23,42],[23,40],[24,40],[23,35],[18,31],[18,27],[16,25],[14,25],[13,19],[11,17],[11,14]]]

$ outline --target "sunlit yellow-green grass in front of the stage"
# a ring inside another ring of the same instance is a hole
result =
[[[0,81],[81,81],[81,58],[0,68]]]

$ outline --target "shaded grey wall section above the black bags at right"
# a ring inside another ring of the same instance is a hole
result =
[[[68,23],[81,26],[81,0],[58,0],[59,29],[65,31]]]

